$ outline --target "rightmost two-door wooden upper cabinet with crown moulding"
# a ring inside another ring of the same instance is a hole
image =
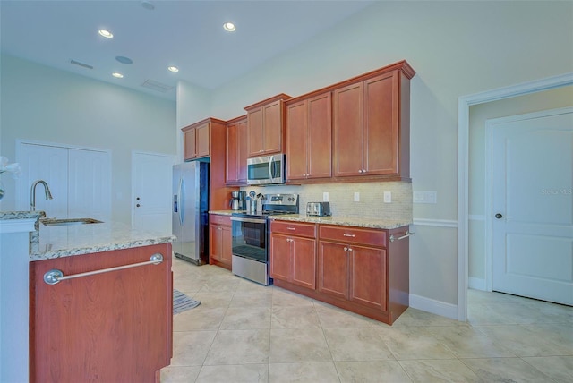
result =
[[[410,79],[404,61],[332,92],[334,177],[410,176]]]

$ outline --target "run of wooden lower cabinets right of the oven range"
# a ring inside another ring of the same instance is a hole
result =
[[[301,284],[293,268],[296,262],[293,247],[305,238],[280,233],[287,226],[296,226],[282,221],[284,227],[279,228],[278,222],[271,224],[270,270],[275,285],[388,324],[406,311],[409,305],[407,226],[379,230],[317,225],[317,241],[312,238],[316,248],[312,249],[310,242],[306,249],[302,245],[298,247],[298,257],[307,262],[304,269],[311,270],[315,266],[316,283],[312,287]],[[315,260],[313,265],[311,260]]]

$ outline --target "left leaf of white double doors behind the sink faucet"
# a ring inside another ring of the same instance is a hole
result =
[[[46,217],[68,217],[68,149],[51,145],[21,143],[20,209],[30,210],[30,187],[46,181],[52,200],[46,200],[44,185],[36,186],[36,210]]]

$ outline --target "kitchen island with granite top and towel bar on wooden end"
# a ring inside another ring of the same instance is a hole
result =
[[[45,226],[30,253],[30,382],[158,382],[173,349],[171,234]]]

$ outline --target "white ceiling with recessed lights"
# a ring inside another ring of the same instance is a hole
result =
[[[216,89],[372,1],[0,1],[2,53],[175,100],[177,81]],[[224,22],[236,31],[223,30]],[[107,29],[114,38],[102,38]],[[133,64],[121,64],[116,56]],[[87,69],[70,61],[93,66]],[[168,72],[168,65],[180,68]],[[115,79],[112,72],[122,72]],[[142,87],[147,80],[173,87]]]

